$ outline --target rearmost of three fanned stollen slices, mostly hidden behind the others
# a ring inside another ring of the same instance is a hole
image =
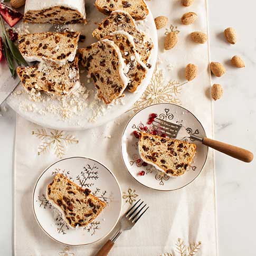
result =
[[[153,49],[153,42],[143,32],[137,30],[135,21],[129,13],[120,10],[112,12],[99,24],[98,29],[92,32],[92,35],[97,39],[102,39],[110,33],[120,30],[134,37],[137,52],[141,60],[147,63]]]

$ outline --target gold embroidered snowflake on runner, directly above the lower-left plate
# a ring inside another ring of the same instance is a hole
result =
[[[46,153],[53,148],[54,154],[62,158],[65,154],[65,146],[79,143],[79,140],[75,139],[73,135],[67,135],[64,131],[59,130],[49,130],[48,132],[46,129],[37,129],[32,131],[32,135],[42,140],[38,147],[38,155]]]

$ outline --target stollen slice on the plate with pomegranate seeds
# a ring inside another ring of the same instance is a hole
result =
[[[168,176],[181,176],[186,172],[196,153],[196,145],[182,140],[168,139],[141,132],[139,155]]]

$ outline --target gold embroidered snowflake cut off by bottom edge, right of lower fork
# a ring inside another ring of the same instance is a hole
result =
[[[185,245],[184,241],[181,238],[178,238],[176,245],[176,252],[180,256],[193,256],[196,255],[197,252],[201,249],[201,242],[193,242],[189,245]],[[175,256],[170,252],[162,253],[160,256]]]

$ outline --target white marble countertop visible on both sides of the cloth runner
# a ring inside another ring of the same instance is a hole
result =
[[[214,102],[215,138],[256,153],[256,31],[252,29],[256,2],[238,0],[208,1],[210,13],[211,60],[225,64],[226,74],[213,78],[221,83],[224,96]],[[249,4],[250,2],[250,4]],[[238,32],[238,43],[227,44],[223,30],[232,26]],[[240,55],[245,69],[229,64]],[[10,108],[0,112],[0,160],[2,174],[2,229],[0,254],[12,254],[12,159],[15,113]],[[256,230],[255,160],[245,164],[221,153],[215,154],[219,255],[255,255]]]

